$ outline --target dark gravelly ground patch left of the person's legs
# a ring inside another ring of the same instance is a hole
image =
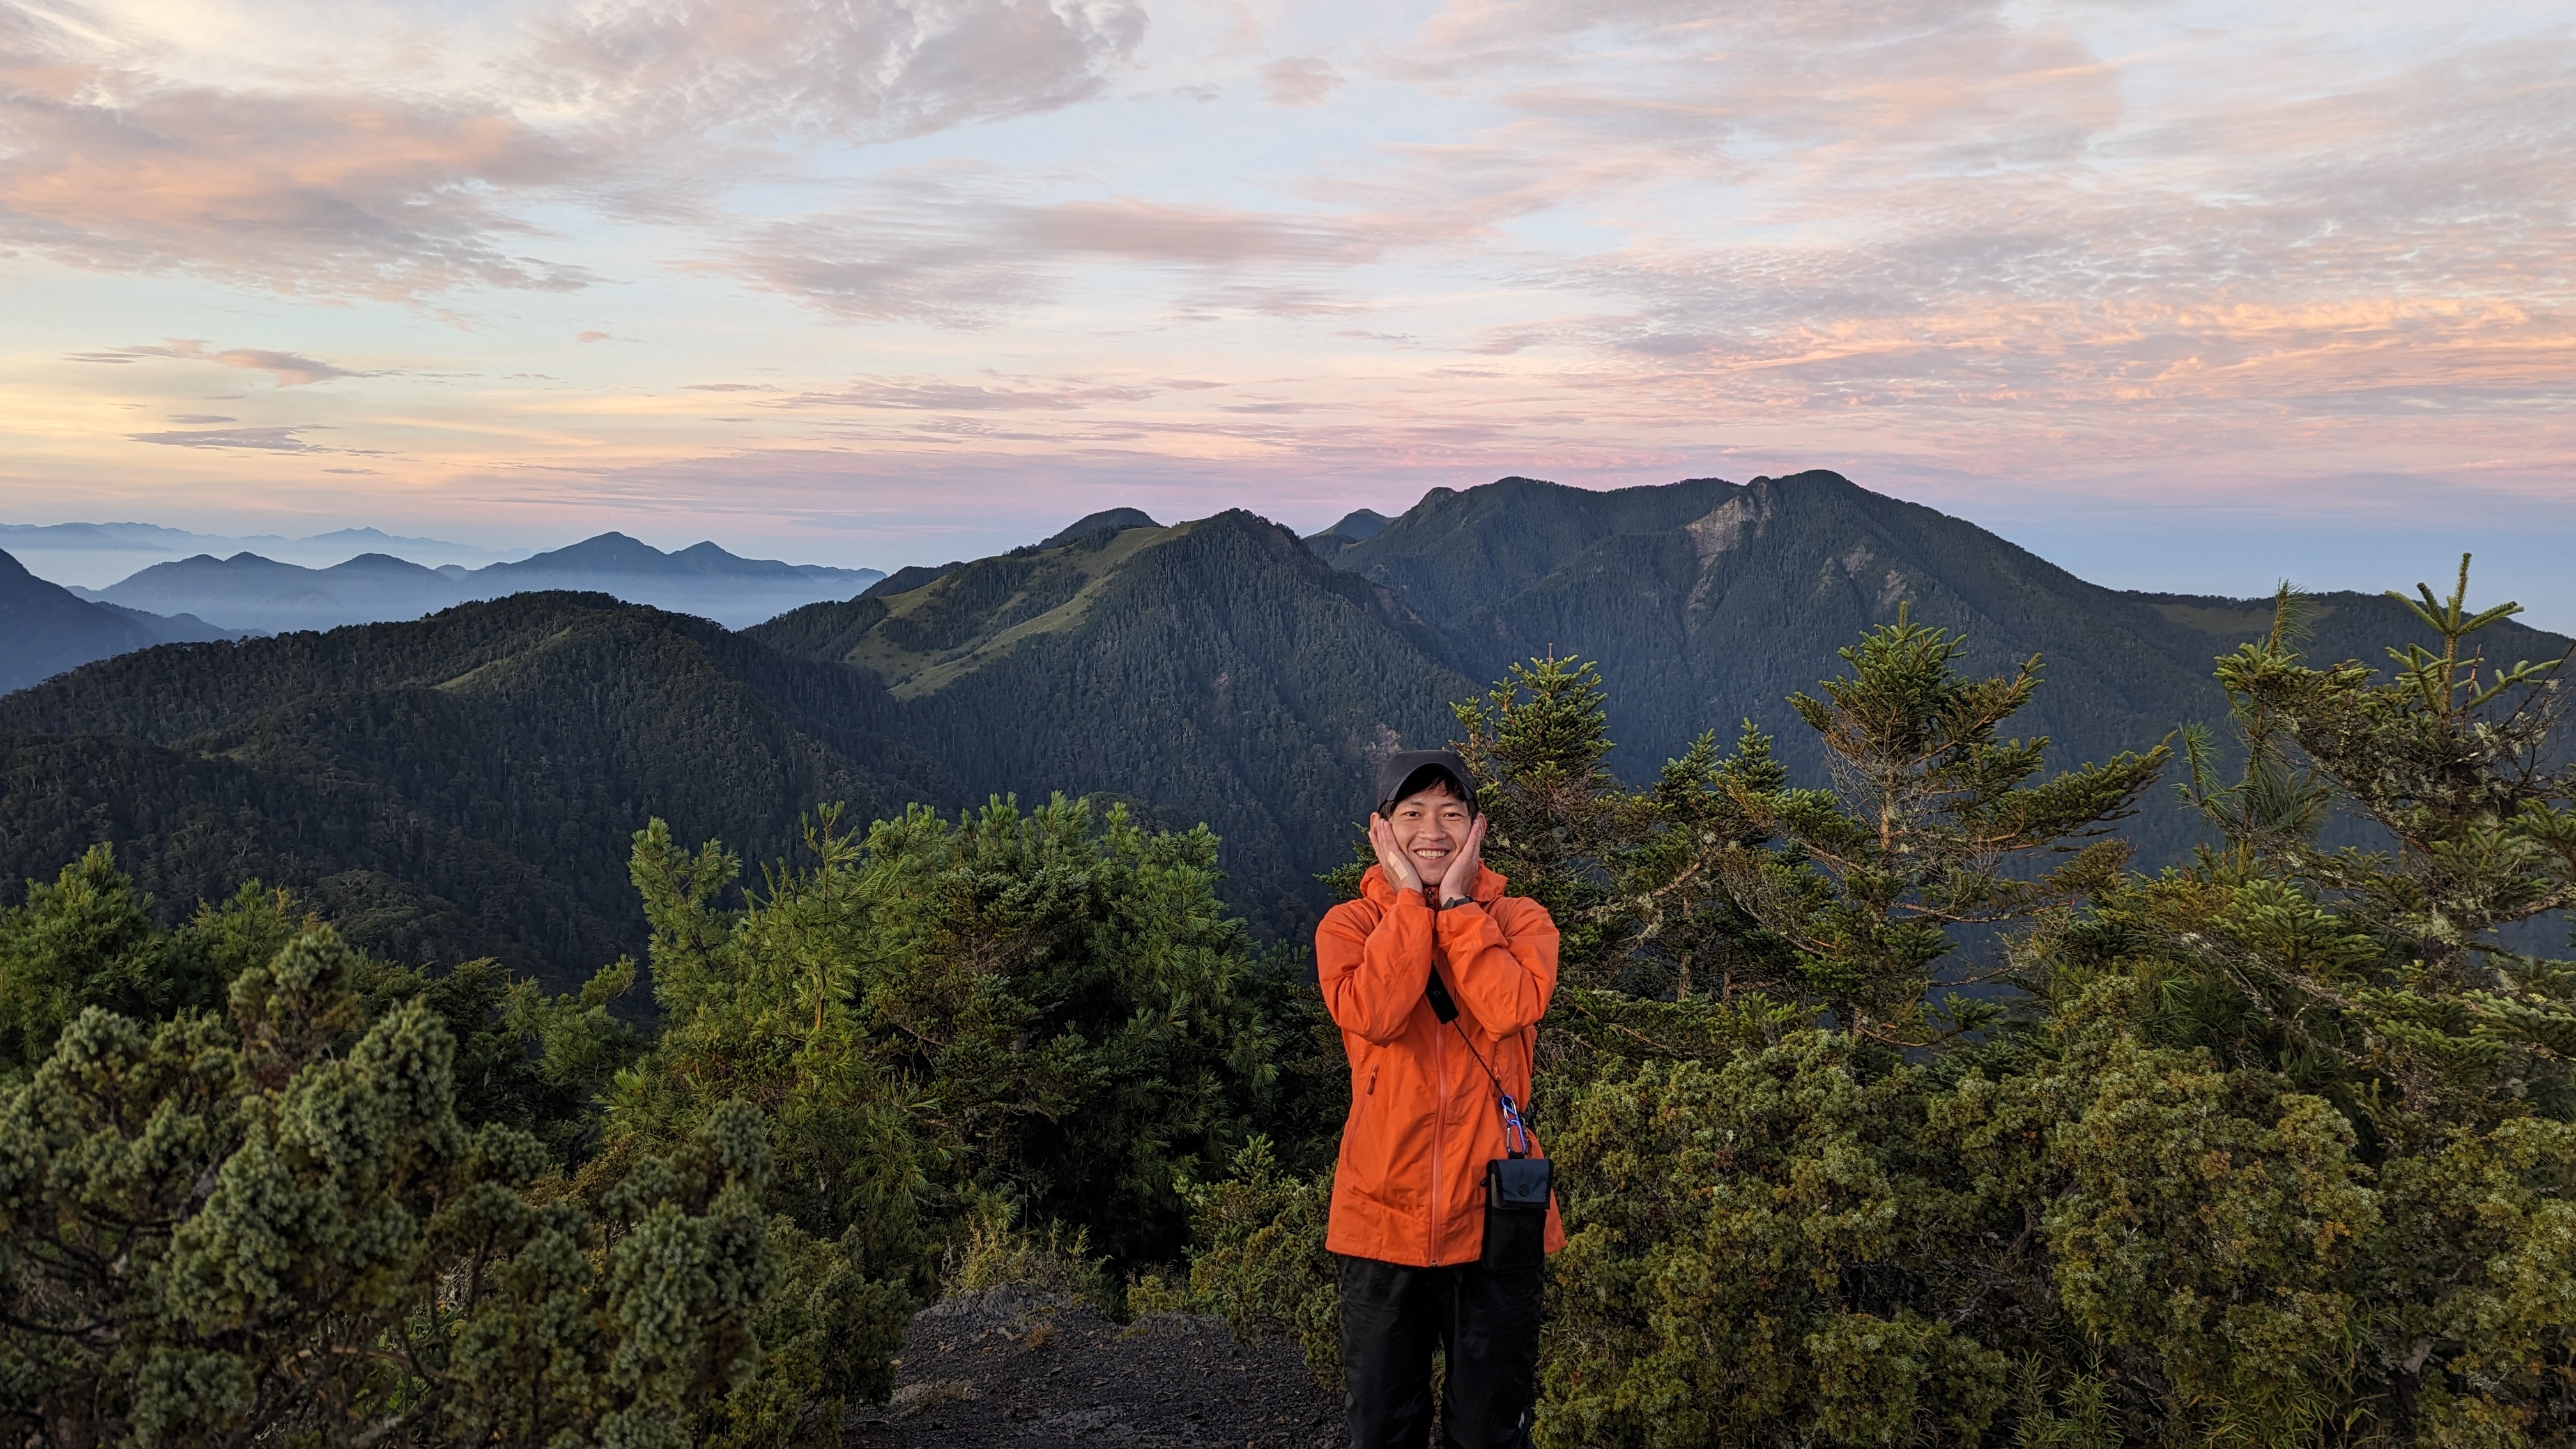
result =
[[[1247,1348],[1182,1312],[1121,1325],[1018,1287],[922,1310],[894,1385],[894,1403],[850,1415],[850,1446],[1347,1444],[1337,1395],[1288,1343]]]

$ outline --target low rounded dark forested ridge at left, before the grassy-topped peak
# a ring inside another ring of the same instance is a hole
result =
[[[757,861],[819,799],[953,797],[884,717],[850,670],[605,596],[165,645],[0,701],[0,871],[103,838],[170,905],[255,874],[386,949],[572,972],[634,949],[652,815]]]

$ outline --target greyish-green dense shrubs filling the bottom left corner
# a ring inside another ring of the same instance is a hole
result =
[[[90,1006],[0,1091],[21,1434],[786,1444],[884,1392],[866,1348],[902,1299],[773,1232],[757,1111],[585,1196],[533,1134],[464,1124],[446,1024],[368,1021],[358,975],[304,931],[232,980],[229,1021]]]

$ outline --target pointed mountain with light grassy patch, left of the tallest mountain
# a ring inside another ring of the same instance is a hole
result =
[[[969,794],[1118,794],[1224,835],[1229,902],[1293,933],[1365,812],[1373,750],[1445,740],[1471,688],[1383,588],[1278,523],[1092,531],[752,637],[886,683]]]

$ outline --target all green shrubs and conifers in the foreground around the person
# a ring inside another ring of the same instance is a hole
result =
[[[1911,608],[1788,701],[1795,750],[1710,730],[1641,786],[1587,660],[1458,701],[1484,859],[1561,926],[1538,1441],[2576,1436],[2576,962],[2532,954],[2576,890],[2566,660],[2488,657],[2512,606],[2465,596],[2372,665],[2282,590],[2228,730],[2074,768],[2012,732],[2045,660],[1968,670]],[[2205,843],[2141,871],[2148,810]],[[572,990],[255,882],[165,926],[106,848],[33,884],[8,1431],[837,1444],[943,1263],[1329,1379],[1350,1078],[1216,835],[858,820],[752,871],[652,820],[644,959]]]

